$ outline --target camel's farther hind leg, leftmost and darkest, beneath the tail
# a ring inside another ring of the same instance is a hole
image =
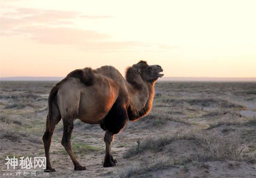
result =
[[[55,172],[55,169],[52,168],[51,163],[50,163],[50,145],[52,141],[52,134],[54,133],[54,128],[60,121],[60,112],[58,110],[57,106],[53,106],[53,111],[52,111],[52,119],[50,120],[49,117],[47,116],[46,119],[46,130],[43,136],[43,141],[44,141],[44,151],[45,151],[45,156],[46,156],[46,172]],[[49,127],[50,125],[50,127]]]

